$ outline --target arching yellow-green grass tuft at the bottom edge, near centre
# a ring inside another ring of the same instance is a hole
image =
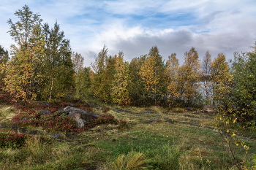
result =
[[[112,164],[110,170],[146,170],[151,168],[150,161],[141,152],[129,152],[127,155],[119,155]]]

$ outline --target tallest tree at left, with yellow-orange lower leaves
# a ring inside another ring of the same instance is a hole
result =
[[[13,23],[11,19],[7,22],[16,44],[11,45],[12,60],[4,65],[4,90],[10,92],[14,101],[26,104],[37,96],[39,68],[44,57],[42,19],[26,5],[15,15],[20,19],[18,22]]]

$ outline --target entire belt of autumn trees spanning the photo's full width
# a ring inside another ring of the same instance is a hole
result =
[[[15,16],[18,22],[7,21],[15,43],[10,52],[0,46],[0,85],[17,104],[67,95],[120,106],[207,104],[256,128],[256,42],[251,52],[235,52],[230,62],[224,53],[212,57],[209,51],[200,61],[195,47],[184,53],[184,63],[176,53],[163,61],[157,46],[128,62],[122,51],[109,55],[104,46],[91,67],[83,67],[83,56],[72,51],[57,22],[50,28],[26,5]]]

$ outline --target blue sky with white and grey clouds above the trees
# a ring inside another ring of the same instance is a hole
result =
[[[157,45],[167,59],[195,47],[200,59],[209,50],[215,58],[225,53],[251,51],[256,38],[255,0],[2,0],[0,4],[0,45],[14,44],[7,20],[28,5],[50,27],[56,22],[72,50],[90,66],[94,56],[108,47],[108,53],[124,52],[124,58],[147,54]]]

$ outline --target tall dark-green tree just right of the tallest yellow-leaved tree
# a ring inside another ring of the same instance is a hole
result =
[[[39,98],[51,99],[63,97],[74,86],[73,63],[69,39],[64,39],[64,32],[59,24],[49,28],[48,23],[43,26],[45,36],[45,58],[41,69],[42,77],[39,82]]]

